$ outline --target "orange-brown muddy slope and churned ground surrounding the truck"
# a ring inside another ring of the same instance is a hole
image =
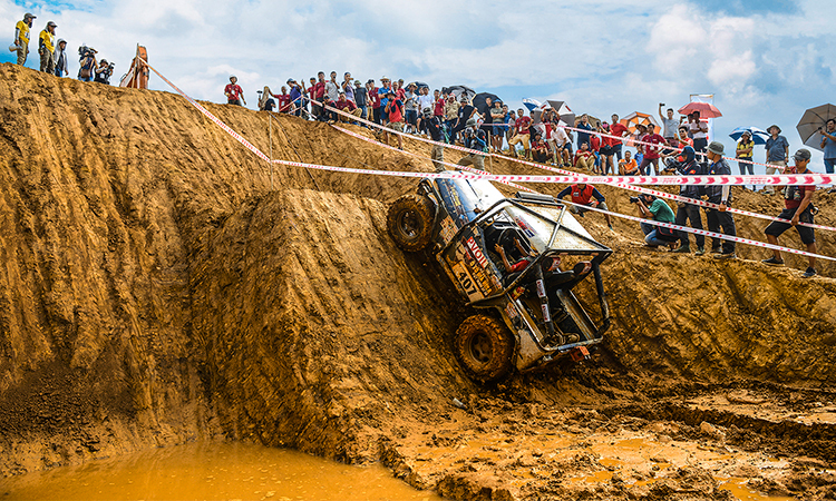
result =
[[[387,235],[388,204],[415,180],[271,171],[168,92],[8,63],[0,91],[3,475],[229,439],[383,461],[460,500],[836,497],[830,263],[805,281],[800,258],[769,268],[752,247],[732,262],[653,252],[633,223],[611,233],[587,215],[615,250],[606,342],[589,362],[479,386],[450,352],[473,312]],[[269,150],[265,114],[206,106]],[[272,147],[432,169],[292,117]],[[738,207],[779,212],[735,189]],[[833,226],[836,195],[816,199]],[[737,220],[762,239],[764,220]]]

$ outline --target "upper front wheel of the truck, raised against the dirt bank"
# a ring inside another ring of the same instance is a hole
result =
[[[404,195],[392,203],[386,226],[402,250],[417,253],[427,248],[432,236],[432,203],[422,195]]]

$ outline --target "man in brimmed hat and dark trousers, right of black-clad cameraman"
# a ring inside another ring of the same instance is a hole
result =
[[[722,158],[723,147],[722,143],[711,141],[708,145],[708,176],[730,176],[731,167]],[[731,213],[726,209],[731,206],[731,187],[729,185],[706,186],[706,195],[708,195],[708,202],[718,204],[719,209],[708,208],[706,209],[706,219],[708,219],[708,230],[715,233],[722,233],[729,236],[737,236],[737,229],[735,228],[735,218],[731,217]],[[722,232],[720,232],[722,228]],[[720,238],[711,238],[711,252],[715,253],[716,259],[729,259],[735,257],[735,243],[730,240],[723,240]]]

